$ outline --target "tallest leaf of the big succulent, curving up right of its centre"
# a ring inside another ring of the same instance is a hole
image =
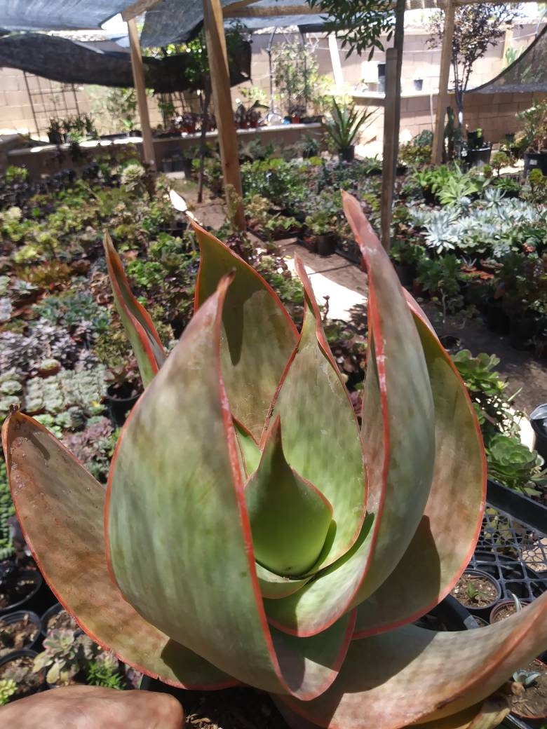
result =
[[[368,223],[359,203],[345,195],[344,206],[357,238],[361,239],[361,228]],[[368,230],[365,233],[368,235]],[[363,402],[367,518],[352,550],[298,593],[266,603],[272,625],[300,636],[323,630],[330,621],[367,599],[387,579],[414,538],[432,483],[435,413],[422,343],[395,271],[376,236],[368,235],[361,248],[369,274],[371,329]],[[307,297],[313,300],[305,271],[298,273]],[[298,402],[296,395],[290,402],[293,409],[294,402]],[[274,406],[274,412],[277,407]],[[333,407],[324,405],[322,410],[333,413]],[[282,423],[287,434],[283,413]],[[287,443],[290,445],[297,436],[298,433],[287,434]],[[341,441],[346,448],[346,440],[341,437]],[[291,465],[324,490],[320,479],[295,462],[288,449],[286,452]],[[338,465],[338,461],[335,463]],[[333,504],[336,519],[333,496],[324,492]]]

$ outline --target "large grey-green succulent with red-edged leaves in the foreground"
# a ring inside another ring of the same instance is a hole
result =
[[[42,426],[4,426],[12,495],[82,629],[172,685],[268,691],[295,727],[488,729],[489,697],[547,643],[547,596],[481,631],[414,621],[468,564],[484,449],[450,357],[357,200],[368,268],[362,428],[306,271],[298,332],[268,284],[197,225],[196,311],[166,357],[106,238],[147,388],[106,492]]]

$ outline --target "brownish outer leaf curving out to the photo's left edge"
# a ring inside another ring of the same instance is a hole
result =
[[[104,558],[105,489],[44,426],[13,413],[2,432],[23,534],[50,588],[79,626],[120,660],[185,688],[236,685],[147,623],[112,582]]]

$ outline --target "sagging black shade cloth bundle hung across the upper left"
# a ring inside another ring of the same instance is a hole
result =
[[[147,87],[159,93],[195,90],[188,82],[190,63],[185,53],[166,58],[143,57]],[[128,52],[104,51],[92,43],[77,43],[58,36],[23,33],[0,38],[0,66],[72,84],[133,86]],[[251,46],[242,42],[230,49],[230,83],[237,85],[251,76]]]

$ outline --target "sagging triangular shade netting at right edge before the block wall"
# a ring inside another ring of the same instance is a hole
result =
[[[492,81],[470,93],[547,91],[547,26],[527,50]]]

